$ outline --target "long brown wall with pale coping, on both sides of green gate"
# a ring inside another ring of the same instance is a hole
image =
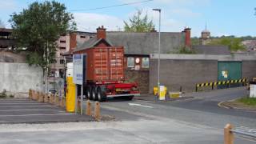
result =
[[[161,54],[160,82],[169,91],[191,92],[218,80],[218,62],[242,62],[242,78],[256,77],[256,55]],[[150,54],[150,93],[158,85],[158,54]]]

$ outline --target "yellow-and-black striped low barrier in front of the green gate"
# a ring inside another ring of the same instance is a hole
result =
[[[234,83],[242,83],[242,86],[246,86],[246,82],[247,82],[246,78],[241,78],[241,79],[228,80],[228,81],[198,83],[195,86],[195,91],[198,91],[199,87],[209,87],[209,86],[211,86],[211,90],[214,90],[214,86],[221,86],[221,85],[230,86],[230,84],[234,84]]]

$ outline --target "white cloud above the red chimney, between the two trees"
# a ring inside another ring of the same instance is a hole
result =
[[[74,20],[78,30],[82,31],[94,32],[98,26],[104,26],[109,31],[123,27],[122,19],[107,14],[74,13]]]

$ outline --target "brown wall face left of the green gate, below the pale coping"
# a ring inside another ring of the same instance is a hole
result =
[[[150,60],[150,93],[158,85],[158,59]],[[168,91],[190,92],[195,84],[216,81],[218,78],[218,61],[216,60],[170,60],[162,59],[160,65],[160,82]]]

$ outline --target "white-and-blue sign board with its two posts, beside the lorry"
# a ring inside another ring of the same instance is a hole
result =
[[[76,84],[76,93],[75,93],[75,113],[78,110],[78,86],[81,86],[81,94],[80,94],[80,114],[82,114],[82,98],[83,98],[83,82],[84,82],[84,61],[85,55],[84,54],[74,54],[73,55],[73,82]]]

